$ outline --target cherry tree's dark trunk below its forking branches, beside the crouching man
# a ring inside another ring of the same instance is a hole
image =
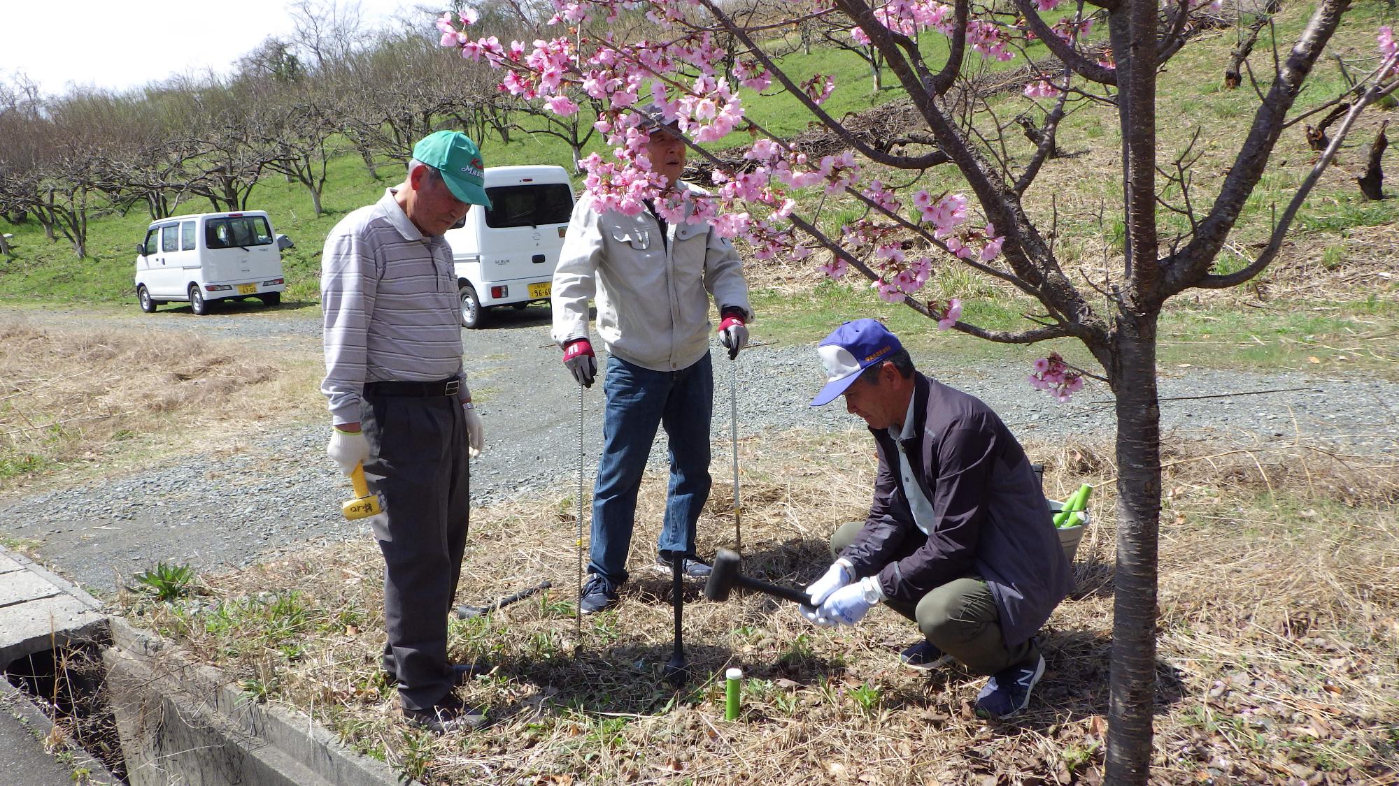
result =
[[[1151,765],[1161,413],[1156,380],[1156,313],[1123,316],[1118,327],[1114,373],[1118,561],[1112,594],[1107,783],[1126,786],[1144,785]]]

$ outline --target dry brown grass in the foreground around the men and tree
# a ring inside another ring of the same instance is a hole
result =
[[[695,681],[659,678],[670,656],[667,585],[651,561],[663,483],[648,477],[617,613],[574,632],[567,496],[477,510],[460,600],[483,604],[544,578],[551,594],[452,622],[452,656],[492,670],[463,689],[492,724],[432,738],[396,719],[378,674],[382,562],[367,540],[208,576],[180,607],[130,600],[147,624],[311,712],[351,744],[434,783],[1095,783],[1101,779],[1115,537],[1111,452],[1031,446],[1046,491],[1098,484],[1079,592],[1042,635],[1049,660],[1030,710],[972,716],[979,677],[902,670],[916,634],[879,610],[813,629],[762,596],[686,607]],[[743,455],[746,569],[800,585],[825,537],[866,505],[863,432],[750,439]],[[1392,783],[1399,766],[1399,470],[1393,453],[1185,445],[1167,469],[1156,783]],[[716,471],[722,469],[716,464]],[[732,543],[729,478],[701,520],[701,551]],[[567,494],[567,492],[564,492]],[[295,587],[294,590],[291,587]],[[715,676],[746,671],[740,722]],[[1300,780],[1298,780],[1300,779]]]

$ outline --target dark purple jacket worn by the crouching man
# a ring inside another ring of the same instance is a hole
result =
[[[953,579],[981,576],[996,599],[1006,643],[1032,636],[1072,592],[1073,578],[1030,460],[1006,424],[975,396],[914,375],[914,436],[902,442],[933,506],[926,536],[914,523],[894,438],[883,428],[870,434],[879,442],[874,502],[841,557],[858,576],[879,573],[884,596],[904,603]]]

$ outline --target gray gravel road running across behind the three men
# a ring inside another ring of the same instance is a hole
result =
[[[476,505],[572,484],[578,473],[578,393],[548,338],[548,309],[506,309],[492,316],[488,329],[463,336],[487,439],[471,471]],[[169,306],[155,315],[134,308],[0,309],[0,319],[73,330],[178,330],[304,357],[320,351],[315,305],[232,306],[206,317]],[[811,337],[813,344],[817,338]],[[811,345],[764,344],[761,322],[754,341],[737,364],[740,436],[862,427],[839,403],[806,406],[821,376]],[[730,372],[718,350],[716,344],[713,436],[723,449],[716,449],[716,462],[727,456]],[[914,359],[922,371],[983,399],[1023,439],[1084,438],[1114,425],[1102,387],[1090,386],[1074,401],[1059,404],[1032,392],[1020,366]],[[1363,453],[1392,448],[1399,439],[1399,383],[1361,375],[1188,369],[1165,376],[1161,396],[1163,427],[1182,436],[1266,442],[1300,435]],[[599,386],[583,396],[589,484],[602,431],[600,400]],[[38,543],[42,561],[99,593],[158,559],[199,568],[243,565],[305,541],[358,536],[361,527],[340,516],[347,488],[325,457],[326,436],[326,427],[287,427],[241,435],[243,448],[232,453],[171,459],[60,491],[0,492],[0,534]],[[663,452],[656,450],[653,460],[663,460]]]

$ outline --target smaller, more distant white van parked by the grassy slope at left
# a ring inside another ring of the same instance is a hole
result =
[[[169,301],[189,302],[197,315],[214,301],[255,296],[281,302],[285,236],[273,235],[267,214],[200,213],[152,221],[136,245],[136,296],[150,313]]]

